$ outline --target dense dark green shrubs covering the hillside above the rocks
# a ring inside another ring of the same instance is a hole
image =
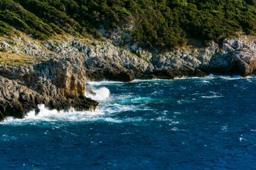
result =
[[[34,38],[127,30],[146,48],[172,48],[187,38],[215,40],[256,33],[256,0],[1,0],[0,34],[13,27]]]

